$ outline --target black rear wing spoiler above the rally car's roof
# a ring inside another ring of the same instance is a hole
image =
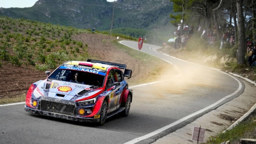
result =
[[[128,77],[128,79],[131,78],[132,70],[126,69],[126,65],[125,64],[112,63],[112,62],[106,62],[106,61],[100,61],[100,60],[94,60],[94,59],[87,59],[87,62],[101,63],[101,64],[117,67],[119,69],[123,69],[123,70],[125,70],[124,71],[124,76]]]

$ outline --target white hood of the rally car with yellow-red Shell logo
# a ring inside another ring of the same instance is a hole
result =
[[[36,88],[41,95],[57,99],[76,101],[98,95],[103,90],[95,86],[64,82],[59,80],[44,80]]]

